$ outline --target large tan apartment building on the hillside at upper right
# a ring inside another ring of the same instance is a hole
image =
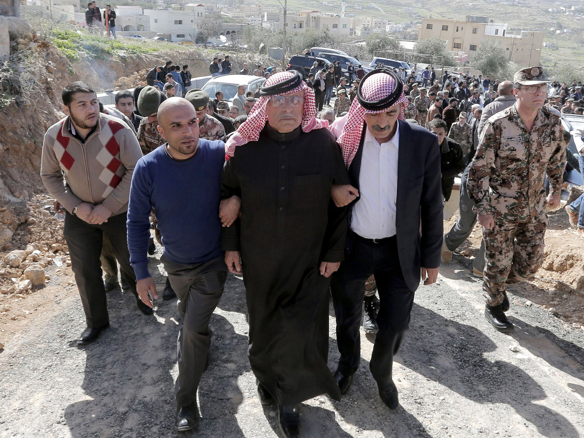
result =
[[[539,65],[543,32],[521,30],[509,32],[507,23],[494,23],[487,17],[468,16],[465,20],[425,18],[419,30],[419,40],[440,38],[454,53],[474,54],[484,41],[499,43],[509,61],[520,67]]]

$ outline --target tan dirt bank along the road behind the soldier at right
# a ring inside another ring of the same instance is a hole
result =
[[[537,272],[540,278],[507,286],[507,290],[546,308],[567,324],[584,329],[584,240],[570,227],[563,208],[548,212],[548,217],[544,261]],[[449,231],[457,220],[458,211],[444,221],[444,231]],[[481,227],[476,224],[456,253],[474,259],[481,239]]]

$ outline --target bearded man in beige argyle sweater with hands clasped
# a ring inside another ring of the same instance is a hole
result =
[[[63,90],[62,100],[67,117],[44,136],[40,172],[48,193],[67,210],[63,234],[87,322],[77,343],[86,344],[109,326],[99,260],[103,234],[130,282],[138,308],[152,314],[138,297],[126,237],[130,182],[142,152],[130,127],[99,112],[91,86],[73,82]]]

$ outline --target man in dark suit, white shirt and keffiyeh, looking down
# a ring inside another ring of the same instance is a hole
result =
[[[357,99],[338,139],[352,186],[338,187],[340,196],[333,192],[337,205],[353,199],[345,261],[331,283],[340,352],[335,380],[345,393],[359,367],[364,286],[374,274],[381,303],[370,370],[381,399],[395,409],[393,357],[408,329],[420,271],[424,284],[432,284],[440,265],[440,149],[436,135],[403,120],[407,100],[390,69],[367,74]]]

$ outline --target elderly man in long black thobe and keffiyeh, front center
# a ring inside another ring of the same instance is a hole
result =
[[[223,249],[228,269],[244,276],[260,401],[275,399],[280,430],[291,437],[301,402],[340,398],[326,364],[328,288],[347,223],[331,188],[350,181],[298,72],[274,74],[260,96],[225,146],[222,196],[241,197],[241,220],[223,229]]]

